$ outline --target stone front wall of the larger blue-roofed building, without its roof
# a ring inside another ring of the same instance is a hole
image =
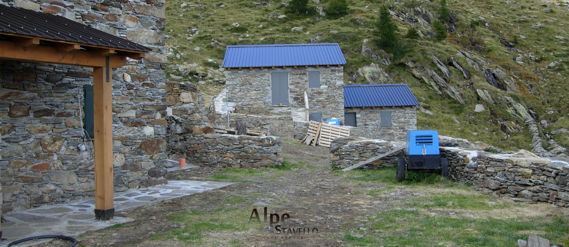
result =
[[[321,66],[298,66],[297,69],[282,67],[273,69],[253,68],[226,70],[226,87],[231,98],[238,103],[237,113],[269,114],[278,111],[271,106],[271,72],[288,72],[288,107],[304,109],[304,92],[308,94],[310,112],[321,112],[325,121],[330,118],[344,119],[344,68]],[[320,71],[320,88],[308,88],[308,71]]]

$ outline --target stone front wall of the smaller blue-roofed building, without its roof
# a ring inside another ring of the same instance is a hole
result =
[[[391,127],[381,127],[381,111],[391,111]],[[366,107],[345,108],[345,112],[356,112],[356,125],[350,130],[351,136],[367,139],[405,141],[407,130],[417,129],[417,110],[415,107],[395,107],[375,109]]]

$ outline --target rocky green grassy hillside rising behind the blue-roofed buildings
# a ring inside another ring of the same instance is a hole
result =
[[[170,37],[167,43],[172,48],[172,65],[197,64],[188,68],[222,77],[216,69],[222,62],[226,45],[311,43],[311,39],[314,41],[319,37],[318,43],[340,44],[348,61],[346,83],[369,83],[357,70],[372,63],[381,65],[382,72],[388,77],[387,83],[407,83],[424,110],[432,112],[430,115],[418,111],[419,129],[436,129],[442,135],[480,140],[506,150],[531,150],[526,119],[512,107],[517,103],[535,122],[546,120],[540,125],[545,145],[545,134],[569,128],[569,122],[562,118],[567,115],[569,105],[568,86],[564,83],[569,59],[567,40],[562,37],[569,38],[566,2],[447,1],[451,20],[445,23],[450,32],[442,41],[427,35],[432,32],[430,23],[440,18],[440,0],[405,3],[353,0],[348,1],[349,14],[339,18],[318,14],[315,7],[326,11],[329,1],[317,2],[309,1],[308,14],[296,14],[281,1],[167,0],[166,33]],[[395,56],[373,45],[377,11],[384,3],[393,11],[399,36],[405,35],[409,27],[416,27],[424,34],[418,40],[400,37],[402,49]],[[427,22],[421,22],[419,18]],[[303,29],[292,31],[294,27]],[[365,39],[371,40],[368,44],[375,55],[372,57],[380,60],[362,55]],[[196,47],[199,51],[195,51]],[[464,56],[457,55],[459,51],[471,53],[483,64],[469,63]],[[176,55],[180,55],[179,58]],[[411,73],[409,62],[442,75],[433,57],[447,66],[450,71],[448,85],[460,93],[465,104],[447,94],[437,93]],[[381,58],[391,62],[382,64]],[[468,70],[470,79],[450,65],[452,58]],[[552,62],[556,64],[548,67]],[[483,70],[496,68],[513,78],[517,92],[498,89],[486,82]],[[168,74],[183,76],[174,66],[168,68]],[[196,80],[192,77],[184,79]],[[203,87],[213,95],[221,85],[208,82]],[[488,91],[494,103],[483,101],[476,90]],[[475,112],[476,104],[483,104],[485,110]],[[567,147],[569,141],[564,134],[551,137]]]

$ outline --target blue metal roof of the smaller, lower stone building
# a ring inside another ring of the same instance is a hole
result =
[[[344,107],[418,106],[407,84],[344,85]]]

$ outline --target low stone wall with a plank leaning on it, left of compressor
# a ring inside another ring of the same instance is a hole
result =
[[[405,143],[401,141],[392,143],[384,140],[362,140],[358,137],[336,138],[330,144],[330,153],[332,153],[330,166],[332,169],[344,169],[403,145]],[[397,158],[404,156],[405,151],[394,153],[382,160],[365,165],[364,169],[393,166],[397,164]]]

